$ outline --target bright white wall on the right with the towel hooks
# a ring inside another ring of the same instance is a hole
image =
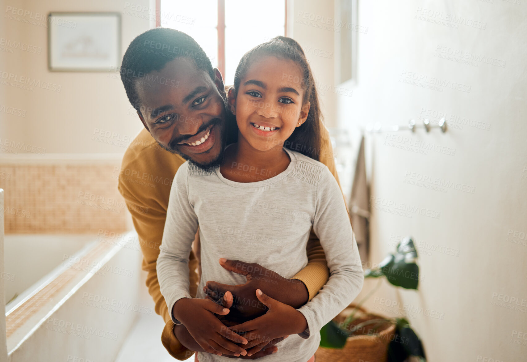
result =
[[[432,15],[420,15],[419,8],[430,9]],[[448,27],[447,15],[465,23]],[[413,235],[421,245],[424,278],[417,292],[385,283],[367,307],[392,316],[412,309],[409,320],[431,362],[522,360],[527,340],[517,337],[527,333],[527,240],[520,239],[527,238],[521,234],[527,232],[527,4],[361,1],[358,16],[368,32],[358,34],[353,97],[338,100],[340,125],[353,129],[358,138],[358,129],[367,123],[404,125],[412,118],[421,123],[426,110],[446,112],[451,124],[446,134],[418,129],[415,134],[367,136],[375,197],[371,204],[376,207],[370,260],[381,261],[399,236]],[[442,46],[474,53],[476,59],[484,56],[491,64],[463,64],[458,56],[441,59],[437,55],[442,55]],[[493,65],[493,58],[505,66]],[[403,82],[414,76],[421,83]],[[461,90],[422,87],[434,77],[460,83]],[[467,87],[470,92],[463,91]],[[437,122],[440,117],[430,118]],[[487,125],[489,129],[481,129]],[[417,142],[431,142],[438,151],[416,153],[423,150]],[[454,186],[446,192],[417,186],[412,173]],[[462,185],[469,192],[455,189]],[[380,208],[384,203],[394,206]],[[433,218],[410,212],[405,217],[394,214],[399,207],[440,214]],[[447,247],[458,256],[449,255]],[[373,286],[367,282],[364,290]],[[499,299],[506,300],[503,306],[493,304]],[[392,302],[399,304],[389,307]],[[514,310],[518,307],[521,311]]]

